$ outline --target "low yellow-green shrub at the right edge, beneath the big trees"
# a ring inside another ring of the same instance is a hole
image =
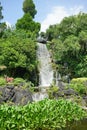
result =
[[[73,88],[80,95],[87,94],[87,78],[72,79],[69,87]]]

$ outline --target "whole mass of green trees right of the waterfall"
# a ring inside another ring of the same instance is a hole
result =
[[[58,71],[71,78],[87,77],[87,14],[65,17],[45,35]]]

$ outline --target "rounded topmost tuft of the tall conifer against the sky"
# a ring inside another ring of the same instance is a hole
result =
[[[30,13],[32,18],[34,18],[37,11],[35,9],[35,4],[33,3],[33,0],[24,0],[24,2],[23,2],[23,11],[24,11],[24,13]]]

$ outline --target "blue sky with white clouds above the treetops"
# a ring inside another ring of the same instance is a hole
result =
[[[14,26],[23,17],[24,0],[0,0],[3,6],[3,21]],[[41,31],[45,32],[50,25],[60,23],[64,17],[87,13],[87,0],[33,0],[37,14],[35,21],[41,23]]]

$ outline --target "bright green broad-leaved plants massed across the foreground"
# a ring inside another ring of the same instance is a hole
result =
[[[1,105],[0,115],[2,130],[55,130],[87,116],[75,103],[48,99],[23,107]]]

